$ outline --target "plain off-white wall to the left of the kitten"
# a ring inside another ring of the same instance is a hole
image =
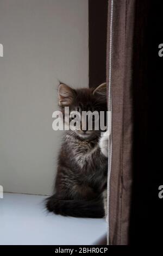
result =
[[[58,79],[88,85],[87,0],[0,1],[0,185],[50,194]]]

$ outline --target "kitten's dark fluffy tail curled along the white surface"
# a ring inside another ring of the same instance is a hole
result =
[[[46,208],[63,216],[103,218],[105,215],[102,197],[93,200],[61,200],[54,194],[46,199]]]

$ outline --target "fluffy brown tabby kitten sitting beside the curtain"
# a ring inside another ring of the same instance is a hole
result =
[[[106,83],[95,88],[73,89],[60,83],[58,100],[61,112],[107,111]],[[83,120],[82,120],[83,121]],[[58,156],[55,192],[46,199],[46,208],[54,214],[72,217],[102,218],[106,211],[108,171],[108,131],[65,131]],[[105,201],[105,203],[104,203]]]

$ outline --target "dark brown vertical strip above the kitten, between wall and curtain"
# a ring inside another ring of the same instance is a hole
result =
[[[89,0],[89,86],[106,82],[108,0]]]

